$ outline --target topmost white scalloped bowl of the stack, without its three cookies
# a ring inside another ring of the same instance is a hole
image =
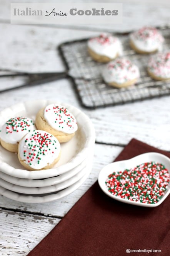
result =
[[[24,179],[43,179],[54,177],[72,170],[84,161],[95,143],[95,129],[89,117],[81,110],[66,103],[54,100],[36,100],[18,103],[0,112],[0,128],[11,117],[24,116],[35,120],[37,112],[43,107],[57,103],[65,106],[76,118],[78,131],[68,142],[61,144],[61,158],[48,170],[28,171],[19,163],[17,154],[0,146],[0,171],[7,175]]]

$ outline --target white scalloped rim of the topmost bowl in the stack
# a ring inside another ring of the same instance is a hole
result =
[[[41,104],[42,107],[45,107],[46,105],[53,104],[53,103],[57,103],[65,106],[75,116],[76,119],[80,118],[81,120],[83,120],[83,123],[85,124],[85,128],[86,128],[85,129],[86,142],[85,142],[84,148],[68,163],[63,164],[57,168],[41,170],[41,171],[28,171],[28,170],[13,168],[13,166],[11,166],[10,164],[0,160],[0,171],[17,178],[27,178],[27,179],[49,178],[56,175],[60,175],[62,173],[65,173],[73,169],[75,166],[80,164],[87,157],[89,148],[95,142],[95,129],[93,127],[93,124],[90,118],[87,115],[85,115],[81,110],[73,107],[72,105],[68,105],[66,103],[58,102],[55,100],[26,101],[2,110],[0,112],[0,117],[6,115],[6,113],[8,112],[17,111],[20,109],[27,111],[30,105],[32,107],[35,106],[35,109],[36,109],[38,104],[39,105]]]

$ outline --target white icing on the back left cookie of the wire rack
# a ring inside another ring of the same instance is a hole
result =
[[[110,59],[114,59],[117,54],[118,56],[122,56],[123,54],[120,40],[110,34],[103,33],[98,37],[89,39],[88,47],[92,49],[93,52],[107,56]]]

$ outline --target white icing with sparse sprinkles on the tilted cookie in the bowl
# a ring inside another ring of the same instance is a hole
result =
[[[72,134],[78,129],[75,117],[61,105],[48,105],[44,109],[43,116],[48,124],[57,131]]]

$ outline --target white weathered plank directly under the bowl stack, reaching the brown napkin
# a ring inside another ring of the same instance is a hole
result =
[[[30,204],[20,203],[0,196],[0,207],[63,217],[77,202],[77,200],[88,190],[88,188],[90,188],[90,186],[97,180],[98,173],[102,167],[108,163],[111,163],[120,153],[120,151],[122,151],[122,147],[96,144],[93,169],[90,175],[82,186],[80,186],[80,188],[67,197],[63,197],[54,202]]]

